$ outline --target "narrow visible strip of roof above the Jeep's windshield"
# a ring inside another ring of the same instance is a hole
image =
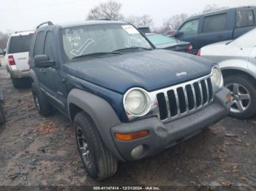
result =
[[[80,22],[72,22],[72,23],[61,23],[56,24],[60,28],[72,28],[76,26],[93,26],[93,25],[102,25],[102,24],[127,24],[122,21],[114,21],[114,20],[89,20],[89,21],[80,21]]]

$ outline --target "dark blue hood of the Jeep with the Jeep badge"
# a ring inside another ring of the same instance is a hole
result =
[[[131,87],[152,91],[202,77],[211,73],[213,65],[213,62],[195,55],[148,50],[80,58],[74,63],[64,64],[64,71],[101,87],[125,93]],[[176,75],[181,72],[187,72],[187,75]]]

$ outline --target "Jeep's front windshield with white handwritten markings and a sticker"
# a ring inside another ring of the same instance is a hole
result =
[[[64,52],[72,59],[97,52],[113,52],[129,47],[152,48],[131,25],[102,24],[62,30]]]

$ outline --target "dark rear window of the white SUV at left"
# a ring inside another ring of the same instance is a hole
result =
[[[11,36],[8,53],[29,52],[32,36],[33,35]]]

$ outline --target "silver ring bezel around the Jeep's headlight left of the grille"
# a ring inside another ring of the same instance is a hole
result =
[[[143,109],[143,111],[140,112],[140,113],[134,113],[132,111],[129,111],[129,109],[127,107],[127,101],[126,101],[127,96],[129,96],[130,93],[132,93],[133,91],[138,91],[138,92],[142,93],[144,95],[144,97],[146,98],[145,109]],[[146,90],[144,90],[143,88],[133,87],[133,88],[127,90],[127,92],[124,94],[123,105],[124,105],[124,111],[126,112],[127,117],[129,118],[129,120],[133,120],[137,117],[143,117],[146,114],[148,114],[148,112],[150,112],[150,110],[151,110],[151,98],[150,98],[149,93]]]

